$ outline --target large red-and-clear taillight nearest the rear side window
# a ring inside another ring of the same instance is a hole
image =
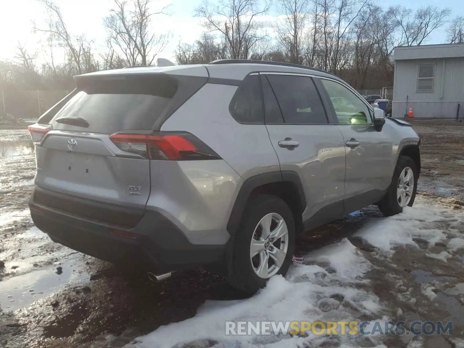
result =
[[[187,132],[153,134],[115,133],[110,140],[122,151],[141,155],[150,160],[194,161],[218,160],[209,146]]]

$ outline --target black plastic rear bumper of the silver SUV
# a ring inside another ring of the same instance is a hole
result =
[[[147,211],[135,227],[127,229],[38,204],[36,191],[43,190],[36,187],[29,201],[35,226],[54,242],[84,254],[115,264],[138,264],[159,273],[224,260],[226,245],[192,244],[161,213]]]

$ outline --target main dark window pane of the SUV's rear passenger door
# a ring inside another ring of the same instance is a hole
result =
[[[324,107],[310,77],[268,75],[284,122],[289,124],[327,124]]]

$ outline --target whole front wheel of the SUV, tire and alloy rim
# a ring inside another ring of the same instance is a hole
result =
[[[385,197],[377,204],[380,211],[391,216],[399,214],[405,206],[412,206],[416,198],[419,173],[411,157],[400,156],[393,173],[392,182]]]

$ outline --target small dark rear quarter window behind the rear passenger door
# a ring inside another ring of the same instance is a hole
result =
[[[264,123],[259,76],[244,78],[229,105],[232,116],[240,123]]]

